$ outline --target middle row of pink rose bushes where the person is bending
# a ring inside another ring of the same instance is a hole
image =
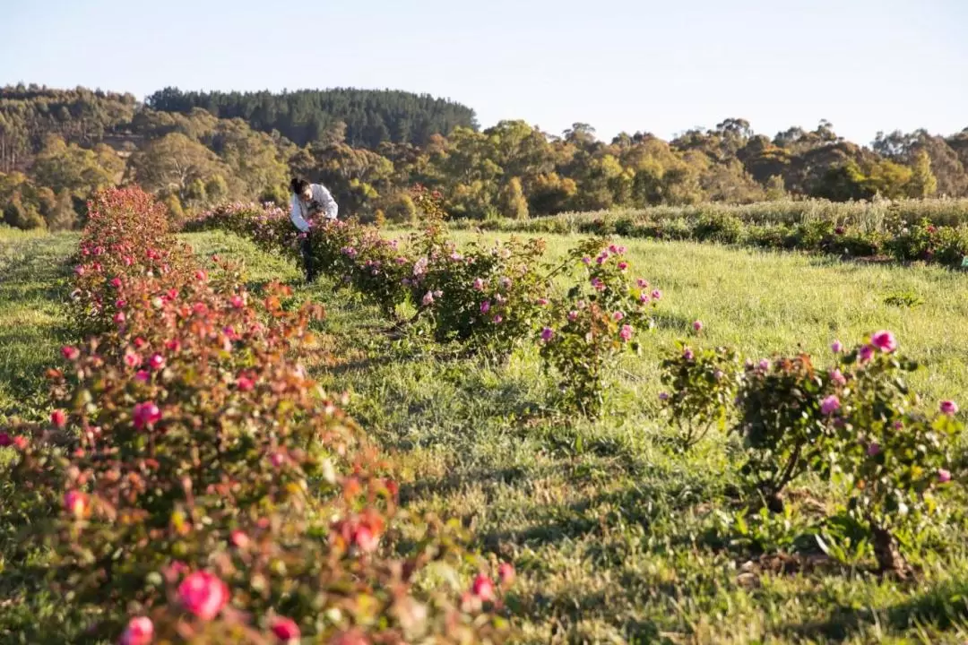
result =
[[[662,297],[635,276],[625,249],[593,239],[558,263],[539,239],[459,249],[439,198],[419,187],[413,196],[422,228],[400,240],[343,220],[313,221],[308,234],[299,234],[283,211],[243,204],[204,214],[187,229],[227,230],[294,260],[308,235],[318,270],[389,316],[405,305],[416,308],[414,318],[427,321],[439,342],[499,355],[522,341],[539,343],[545,365],[560,377],[563,409],[599,413],[608,366],[621,352],[638,349],[651,326],[650,308]]]

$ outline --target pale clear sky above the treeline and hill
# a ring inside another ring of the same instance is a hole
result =
[[[389,87],[602,138],[732,116],[862,143],[968,127],[968,0],[0,0],[0,17],[0,84]]]

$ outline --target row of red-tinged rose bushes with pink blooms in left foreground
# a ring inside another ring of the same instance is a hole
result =
[[[217,258],[210,275],[136,189],[92,201],[79,255],[87,339],[49,373],[49,424],[0,428],[16,486],[52,510],[24,547],[45,548],[51,589],[89,626],[76,638],[509,635],[513,568],[398,509],[391,464],[308,377],[321,308],[279,284],[252,293]],[[45,642],[63,638],[52,625]]]

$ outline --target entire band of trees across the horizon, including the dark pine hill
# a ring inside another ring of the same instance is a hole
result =
[[[344,114],[352,118],[338,119]],[[262,132],[297,121],[321,130],[289,132],[296,141]],[[368,121],[384,128],[368,131]],[[771,137],[726,119],[671,141],[637,132],[606,142],[587,124],[560,136],[524,121],[479,131],[469,108],[401,92],[169,89],[140,104],[83,88],[0,89],[0,208],[21,228],[75,226],[91,191],[126,183],[153,191],[176,218],[226,199],[284,202],[287,177],[298,174],[362,219],[412,219],[407,189],[416,183],[439,191],[454,217],[524,219],[706,202],[962,197],[966,167],[968,129],[880,133],[862,146],[826,121]]]

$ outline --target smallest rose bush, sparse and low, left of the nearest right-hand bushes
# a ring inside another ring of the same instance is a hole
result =
[[[702,330],[702,323],[693,323]],[[740,359],[729,347],[693,350],[680,342],[676,352],[662,362],[659,395],[671,424],[679,428],[686,450],[701,441],[716,425],[725,430],[741,378]]]

